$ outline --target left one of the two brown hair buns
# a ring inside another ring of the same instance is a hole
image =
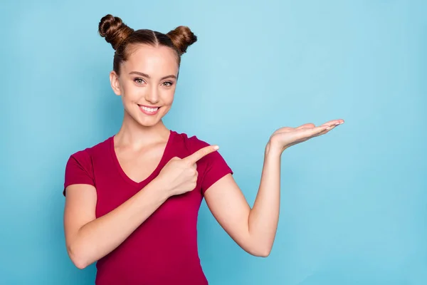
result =
[[[122,19],[110,14],[103,16],[98,26],[100,36],[104,37],[107,43],[111,43],[115,50],[133,31],[132,28],[123,23]]]

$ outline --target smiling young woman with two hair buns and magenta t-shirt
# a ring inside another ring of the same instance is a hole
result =
[[[99,33],[115,49],[110,82],[125,115],[116,135],[71,155],[65,167],[65,242],[75,266],[97,261],[100,285],[208,284],[197,250],[203,198],[242,249],[267,257],[278,226],[282,152],[344,121],[275,131],[251,209],[216,145],[162,123],[194,33],[185,26],[134,31],[112,15],[101,19]]]

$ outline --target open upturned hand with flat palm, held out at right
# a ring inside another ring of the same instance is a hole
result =
[[[282,153],[288,147],[292,145],[296,145],[300,142],[305,142],[306,140],[310,140],[310,138],[315,138],[319,135],[325,135],[333,128],[337,127],[337,125],[341,125],[344,123],[344,120],[331,120],[323,125],[316,127],[314,124],[304,124],[300,125],[297,128],[280,128],[276,130],[273,135],[270,136],[270,140],[268,141],[268,149],[274,147],[275,150]]]

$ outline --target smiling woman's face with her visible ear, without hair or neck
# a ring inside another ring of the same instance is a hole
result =
[[[120,76],[110,73],[111,86],[122,96],[125,113],[144,126],[156,125],[174,100],[178,63],[167,46],[134,47],[120,66]]]

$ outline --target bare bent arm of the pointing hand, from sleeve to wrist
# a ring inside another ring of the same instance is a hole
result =
[[[167,191],[153,180],[116,209],[95,218],[97,194],[92,185],[66,188],[65,244],[73,264],[84,269],[118,247],[166,199]]]

